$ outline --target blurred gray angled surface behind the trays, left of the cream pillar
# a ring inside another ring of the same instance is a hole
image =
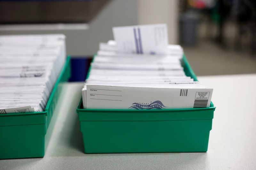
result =
[[[0,31],[4,34],[43,34],[63,33],[67,36],[68,55],[93,55],[99,48],[99,42],[113,39],[113,26],[138,24],[137,0],[112,0],[89,23],[88,29],[70,30],[22,30]],[[1,28],[1,26],[0,26]],[[1,29],[0,29],[1,30]]]

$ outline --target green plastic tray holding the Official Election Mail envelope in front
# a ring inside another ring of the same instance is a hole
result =
[[[197,80],[185,55],[182,65]],[[214,110],[83,109],[81,100],[76,112],[85,153],[206,152]]]

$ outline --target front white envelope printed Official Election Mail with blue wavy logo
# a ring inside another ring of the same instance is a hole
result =
[[[86,108],[166,109],[209,107],[213,89],[87,85]]]

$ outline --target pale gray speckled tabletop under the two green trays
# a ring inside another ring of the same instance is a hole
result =
[[[83,83],[65,83],[44,158],[0,160],[0,169],[256,169],[256,74],[199,77],[216,105],[205,153],[84,154],[76,107]]]

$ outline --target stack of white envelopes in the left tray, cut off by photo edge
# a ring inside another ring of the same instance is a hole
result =
[[[0,114],[44,111],[66,61],[65,36],[0,36]]]

